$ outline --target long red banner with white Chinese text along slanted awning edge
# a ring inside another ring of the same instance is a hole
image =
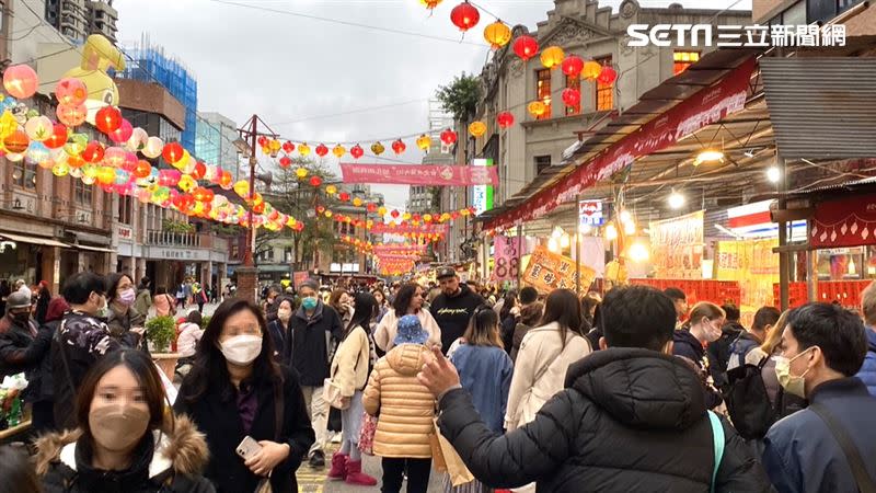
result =
[[[728,73],[721,82],[705,88],[618,140],[565,177],[537,193],[521,205],[489,220],[486,229],[507,228],[532,220],[574,200],[587,187],[611,177],[636,159],[666,149],[694,131],[745,108],[753,58]]]

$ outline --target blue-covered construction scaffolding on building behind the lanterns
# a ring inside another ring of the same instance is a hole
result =
[[[140,42],[124,49],[127,67],[116,77],[158,82],[185,106],[185,128],[180,138],[186,149],[195,148],[197,135],[198,82],[176,58],[164,54],[164,48],[153,45],[148,34]]]

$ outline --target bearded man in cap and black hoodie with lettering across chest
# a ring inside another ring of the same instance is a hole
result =
[[[441,294],[433,301],[429,312],[441,329],[441,351],[447,354],[453,342],[465,333],[474,309],[483,305],[484,299],[459,283],[453,267],[439,268],[436,277]]]

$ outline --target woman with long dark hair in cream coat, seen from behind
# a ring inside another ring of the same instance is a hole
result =
[[[575,293],[555,289],[544,303],[540,326],[527,332],[515,360],[505,427],[529,423],[542,405],[563,389],[566,369],[590,354],[581,333],[581,303]]]

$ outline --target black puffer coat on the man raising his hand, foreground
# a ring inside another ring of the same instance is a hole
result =
[[[441,433],[474,477],[492,488],[531,481],[538,491],[710,490],[712,428],[696,375],[678,358],[633,348],[592,353],[572,365],[566,389],[535,420],[494,436],[464,390],[439,403]],[[724,423],[718,492],[771,491],[763,468]]]

